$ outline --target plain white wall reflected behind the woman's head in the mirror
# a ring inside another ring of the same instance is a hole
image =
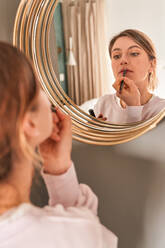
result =
[[[165,1],[106,0],[109,40],[124,29],[139,29],[153,41],[158,55],[158,94],[165,98]]]

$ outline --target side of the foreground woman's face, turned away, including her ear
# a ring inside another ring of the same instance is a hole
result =
[[[23,129],[30,144],[36,147],[49,138],[52,132],[54,136],[55,134],[58,136],[59,123],[58,115],[52,114],[51,103],[44,91],[40,89],[33,110],[27,111],[23,121]]]

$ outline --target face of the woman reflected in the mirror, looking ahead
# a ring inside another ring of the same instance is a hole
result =
[[[132,39],[120,37],[115,41],[111,51],[111,63],[116,79],[126,70],[126,77],[133,80],[137,86],[148,85],[152,62],[144,49]]]

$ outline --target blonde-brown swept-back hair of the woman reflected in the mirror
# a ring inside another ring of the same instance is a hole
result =
[[[115,43],[115,41],[120,38],[120,37],[129,37],[133,41],[135,41],[139,46],[141,46],[144,51],[147,53],[149,60],[154,61],[154,68],[153,68],[153,74],[148,75],[148,88],[151,91],[154,91],[155,88],[157,87],[158,80],[156,77],[156,63],[157,63],[157,58],[156,58],[156,51],[155,47],[153,45],[153,42],[151,39],[144,34],[143,32],[135,29],[126,29],[119,34],[115,35],[110,43],[109,43],[109,54],[111,57],[111,52],[112,52],[112,47]]]

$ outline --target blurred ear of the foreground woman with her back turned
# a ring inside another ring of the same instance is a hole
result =
[[[39,129],[37,125],[37,114],[35,112],[27,112],[23,119],[23,130],[29,138],[36,138],[39,136]]]

